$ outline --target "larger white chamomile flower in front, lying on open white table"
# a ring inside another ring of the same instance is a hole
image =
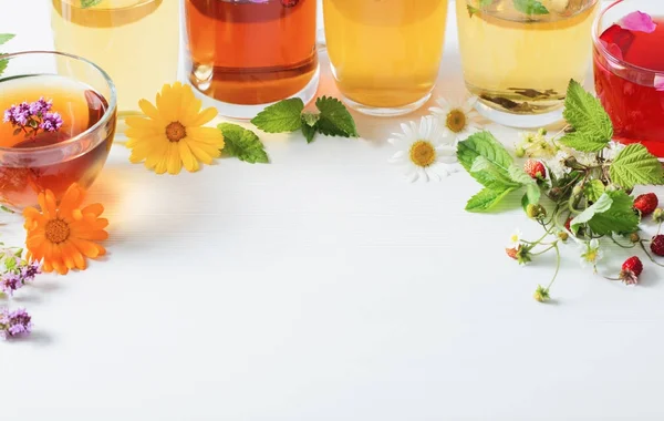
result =
[[[458,171],[456,147],[446,142],[439,123],[432,116],[422,117],[419,124],[402,124],[402,133],[387,141],[398,147],[391,163],[402,165],[411,182],[429,178],[440,181]]]

